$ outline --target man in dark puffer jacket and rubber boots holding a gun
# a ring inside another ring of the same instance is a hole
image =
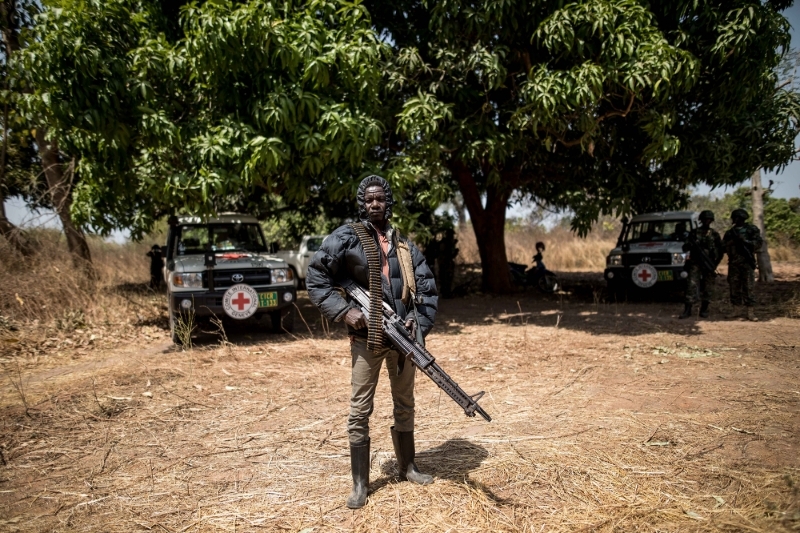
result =
[[[392,442],[400,479],[433,482],[414,463],[414,375],[383,333],[383,307],[404,321],[410,342],[420,344],[433,327],[438,296],[425,256],[389,223],[392,190],[380,176],[368,176],[358,187],[360,221],[336,229],[322,243],[308,267],[308,296],[328,319],[347,324],[350,337],[351,384],[350,466],[353,491],[347,506],[358,509],[367,500],[370,469],[369,417],[381,364],[386,364],[394,403]],[[369,290],[369,318],[339,291],[342,285]],[[402,326],[401,326],[402,327]]]

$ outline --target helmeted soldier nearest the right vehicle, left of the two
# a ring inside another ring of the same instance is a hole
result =
[[[714,222],[712,211],[700,213],[700,227],[689,232],[683,251],[689,252],[686,270],[686,295],[683,313],[678,318],[692,316],[692,305],[700,300],[700,317],[708,318],[708,306],[714,297],[714,285],[717,281],[717,265],[722,261],[722,239],[716,230],[711,228]]]

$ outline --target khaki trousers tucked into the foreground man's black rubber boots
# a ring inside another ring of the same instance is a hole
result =
[[[403,373],[397,374],[397,358],[400,354],[391,348],[383,348],[380,353],[367,350],[366,339],[352,337],[350,340],[352,356],[353,387],[350,394],[350,416],[347,419],[347,434],[351,444],[358,444],[369,437],[369,416],[375,400],[375,388],[381,363],[386,361],[389,385],[394,403],[394,428],[396,431],[414,430],[414,374],[416,368],[406,361]]]

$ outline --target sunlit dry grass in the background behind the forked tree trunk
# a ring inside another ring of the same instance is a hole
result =
[[[531,265],[536,243],[544,242],[544,263],[550,270],[580,272],[603,270],[608,252],[614,248],[616,237],[611,231],[596,231],[580,238],[566,228],[548,232],[537,228],[513,228],[506,232],[506,255],[513,263]],[[478,245],[471,226],[458,232],[458,261],[480,263]]]

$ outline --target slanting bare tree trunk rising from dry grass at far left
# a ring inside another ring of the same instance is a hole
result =
[[[75,227],[72,222],[72,178],[75,173],[75,160],[70,163],[68,172],[59,161],[58,145],[55,141],[50,142],[42,128],[36,129],[36,144],[39,148],[39,157],[42,159],[42,169],[47,180],[47,189],[56,210],[61,225],[64,228],[64,235],[67,238],[67,249],[72,256],[75,266],[83,270],[90,279],[96,278],[96,272],[92,265],[92,254],[89,251],[89,244],[86,236]]]

